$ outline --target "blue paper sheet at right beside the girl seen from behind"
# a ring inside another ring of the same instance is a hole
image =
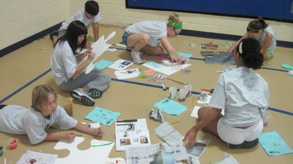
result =
[[[263,133],[259,135],[258,141],[269,155],[282,155],[293,152],[282,140],[278,132]]]

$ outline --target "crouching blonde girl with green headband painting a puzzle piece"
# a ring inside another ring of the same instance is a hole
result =
[[[169,16],[168,23],[143,21],[132,24],[125,29],[122,40],[125,46],[133,48],[131,56],[137,64],[143,63],[140,57],[141,51],[150,55],[162,55],[164,49],[170,54],[172,62],[185,62],[187,59],[179,56],[168,40],[168,37],[176,37],[181,30],[182,22],[178,14],[173,13]],[[162,47],[159,46],[160,44]]]

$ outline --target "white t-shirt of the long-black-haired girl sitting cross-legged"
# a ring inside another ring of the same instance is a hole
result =
[[[51,67],[56,84],[59,86],[75,73],[78,66],[68,42],[57,43],[51,54]]]

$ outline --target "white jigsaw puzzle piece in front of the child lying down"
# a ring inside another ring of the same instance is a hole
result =
[[[87,150],[79,150],[77,145],[84,141],[83,137],[75,137],[74,141],[69,143],[66,141],[59,141],[54,149],[68,149],[70,154],[64,158],[57,158],[54,164],[64,164],[64,163],[105,163],[109,160],[108,155],[114,142],[101,141],[101,140],[91,140],[90,145],[104,145],[90,147]],[[109,144],[109,145],[106,145]]]

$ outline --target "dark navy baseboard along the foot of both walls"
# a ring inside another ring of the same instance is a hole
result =
[[[29,36],[21,41],[19,41],[16,44],[13,44],[7,48],[4,48],[2,50],[0,50],[0,58],[25,46],[28,45],[32,42],[34,42],[35,40],[44,37],[46,35],[48,35],[49,33],[51,33],[54,30],[57,30],[61,27],[61,23],[58,23],[48,29],[45,29],[35,35]],[[238,39],[240,39],[242,36],[239,35],[230,35],[230,34],[221,34],[221,33],[213,33],[213,32],[203,32],[203,31],[194,31],[194,30],[185,30],[183,29],[180,32],[180,35],[185,35],[185,36],[196,36],[196,37],[205,37],[205,38],[213,38],[213,39],[222,39],[222,40],[232,40],[232,41],[236,41]],[[286,42],[286,41],[282,41],[282,40],[277,40],[277,46],[278,47],[284,47],[284,48],[293,48],[293,42]]]

